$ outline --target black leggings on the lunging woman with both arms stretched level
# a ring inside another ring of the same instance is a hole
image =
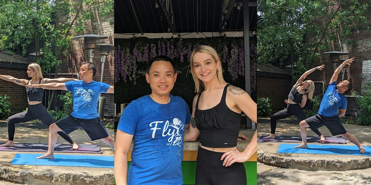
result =
[[[18,114],[14,114],[8,118],[8,135],[9,141],[14,140],[14,132],[16,128],[14,124],[16,123],[23,123],[31,120],[41,120],[45,125],[48,127],[54,123],[52,116],[47,112],[46,108],[42,103],[36,105],[28,105],[28,111],[20,112]],[[63,138],[66,139],[70,144],[73,143],[72,138],[67,135],[65,132],[59,131],[58,134]]]

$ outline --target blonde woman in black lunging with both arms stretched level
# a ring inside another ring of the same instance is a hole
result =
[[[64,83],[68,81],[77,80],[74,78],[56,78],[56,79],[49,79],[43,78],[41,73],[41,68],[39,64],[31,63],[27,67],[27,75],[28,77],[32,78],[31,80],[25,79],[17,79],[9,75],[0,75],[0,78],[6,81],[13,82],[18,85],[22,85],[26,87],[29,84],[47,84],[47,83]],[[28,101],[28,111],[20,112],[18,114],[14,114],[8,118],[8,142],[5,144],[0,145],[0,147],[13,147],[14,146],[14,132],[15,132],[15,123],[20,122],[27,122],[31,120],[41,120],[45,125],[48,127],[54,123],[52,116],[46,111],[46,108],[42,104],[42,97],[44,93],[43,88],[34,88],[34,87],[26,87],[27,92],[27,101]],[[79,145],[72,140],[69,135],[65,132],[58,132],[63,139],[66,139],[70,144],[72,144],[72,149],[77,150],[79,149]]]

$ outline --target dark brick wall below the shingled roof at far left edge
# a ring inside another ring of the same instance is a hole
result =
[[[0,67],[0,74],[11,75],[14,78],[29,79],[26,74],[26,70],[2,68]],[[6,94],[10,98],[7,101],[10,102],[10,111],[12,113],[18,113],[27,108],[27,94],[26,88],[17,85],[13,82],[0,80],[0,94]]]

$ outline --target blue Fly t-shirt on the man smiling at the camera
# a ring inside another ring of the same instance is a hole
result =
[[[121,115],[117,129],[134,135],[128,184],[183,184],[185,125],[191,115],[187,103],[170,95],[159,104],[149,95],[132,101]]]

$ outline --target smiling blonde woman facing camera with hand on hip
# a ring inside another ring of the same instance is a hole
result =
[[[184,141],[199,134],[196,184],[247,184],[242,162],[256,152],[256,132],[243,152],[236,150],[241,111],[256,122],[256,103],[244,90],[226,83],[214,48],[198,46],[191,54],[191,73],[196,87],[191,127]],[[189,124],[188,124],[189,125]],[[187,125],[187,126],[188,126]]]

